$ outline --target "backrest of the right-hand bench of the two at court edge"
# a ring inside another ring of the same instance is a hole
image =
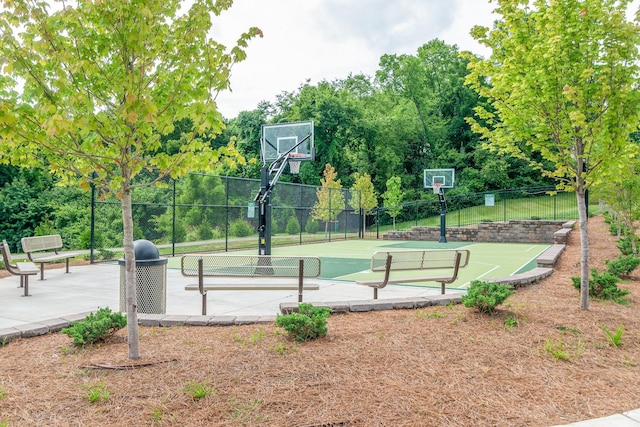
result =
[[[466,267],[469,263],[469,251],[466,249],[378,251],[371,257],[371,271],[385,271],[389,255],[392,256],[390,271],[454,269],[457,254],[460,254],[460,264],[457,267]]]

